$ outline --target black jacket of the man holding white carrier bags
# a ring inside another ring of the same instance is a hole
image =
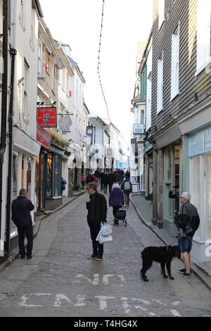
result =
[[[107,201],[103,194],[96,192],[90,196],[91,202],[87,202],[87,222],[90,225],[101,225],[101,222],[106,222],[107,216]]]

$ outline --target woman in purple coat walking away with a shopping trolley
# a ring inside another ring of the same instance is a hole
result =
[[[113,207],[114,225],[118,224],[118,220],[116,219],[116,213],[123,205],[124,194],[120,188],[120,185],[115,183],[109,196],[109,206]]]

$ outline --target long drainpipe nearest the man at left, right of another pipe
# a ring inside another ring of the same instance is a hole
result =
[[[15,78],[15,56],[16,46],[16,1],[13,1],[13,44],[10,49],[11,54],[11,96],[8,113],[8,180],[7,180],[7,201],[6,201],[6,255],[10,255],[11,243],[11,195],[12,195],[12,170],[13,170],[13,96]]]

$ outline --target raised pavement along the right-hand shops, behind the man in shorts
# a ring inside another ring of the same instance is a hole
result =
[[[153,225],[153,203],[147,201],[141,195],[132,195],[130,200],[136,209],[141,221],[155,233],[158,238],[164,244],[176,243],[177,239],[169,235],[165,228],[159,229],[156,225]],[[211,290],[211,263],[210,262],[200,262],[196,258],[191,258],[191,270],[195,275]]]

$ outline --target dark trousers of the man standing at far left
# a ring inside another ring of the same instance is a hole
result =
[[[24,239],[27,237],[27,252],[25,253]],[[32,225],[26,227],[18,227],[18,245],[20,255],[32,255],[33,249],[33,227]]]

